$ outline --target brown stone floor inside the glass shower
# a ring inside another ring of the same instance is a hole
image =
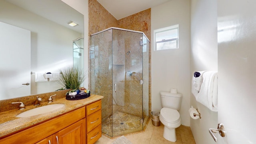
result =
[[[102,132],[108,136],[122,136],[134,132],[143,130],[142,124],[140,124],[141,117],[125,114],[123,112],[116,112],[113,116],[106,118],[102,121]],[[149,116],[144,118],[144,126],[148,121]],[[112,134],[112,120],[113,120],[113,134]]]

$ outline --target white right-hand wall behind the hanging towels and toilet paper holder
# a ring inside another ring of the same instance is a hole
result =
[[[195,71],[218,70],[217,42],[217,1],[191,0],[191,73]],[[191,102],[202,114],[201,119],[190,118],[190,127],[196,144],[215,144],[208,129],[218,125],[218,112],[212,112],[196,102],[194,95]]]

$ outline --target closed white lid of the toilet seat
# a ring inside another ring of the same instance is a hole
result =
[[[171,108],[162,108],[160,114],[166,122],[176,123],[180,120],[180,113]]]

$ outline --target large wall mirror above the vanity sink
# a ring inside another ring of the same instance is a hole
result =
[[[0,0],[0,26],[7,26],[0,27],[6,29],[0,37],[0,100],[58,90],[56,80],[35,82],[35,74],[73,66],[73,41],[84,36],[84,16],[61,0]]]

